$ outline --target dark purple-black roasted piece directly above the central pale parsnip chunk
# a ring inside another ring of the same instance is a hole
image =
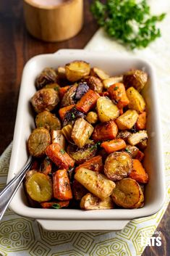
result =
[[[75,121],[79,117],[84,118],[85,114],[77,110],[76,107],[72,107],[70,110],[67,110],[66,114],[64,115],[63,126],[72,123],[72,121]]]

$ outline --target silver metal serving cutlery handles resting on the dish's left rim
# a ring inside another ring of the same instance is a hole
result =
[[[17,176],[14,176],[9,183],[4,187],[0,192],[0,220],[4,215],[4,212],[7,210],[9,203],[11,202],[14,194],[17,192],[17,189],[20,187],[27,170],[33,163],[33,157],[29,157],[26,164],[22,167]]]

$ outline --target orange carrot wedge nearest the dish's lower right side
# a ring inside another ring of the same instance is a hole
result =
[[[133,159],[133,169],[129,174],[130,178],[133,178],[135,181],[140,183],[147,183],[148,182],[148,174],[145,172],[143,165],[137,159]]]

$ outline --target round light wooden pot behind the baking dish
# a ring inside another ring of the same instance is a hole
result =
[[[24,0],[27,30],[43,41],[64,41],[82,28],[83,0],[68,0],[56,6],[35,4]]]

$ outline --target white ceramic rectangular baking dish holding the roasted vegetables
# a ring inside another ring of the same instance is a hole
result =
[[[56,54],[43,54],[30,59],[22,74],[17,119],[14,129],[12,157],[9,165],[8,181],[22,168],[27,160],[26,141],[35,127],[30,110],[30,98],[35,93],[35,78],[44,67],[58,67],[75,59],[101,67],[110,75],[119,75],[132,68],[145,70],[149,75],[148,86],[143,90],[148,111],[148,148],[145,151],[145,168],[150,181],[145,189],[145,206],[140,209],[114,210],[69,210],[40,209],[27,204],[23,186],[15,194],[10,204],[19,215],[34,218],[48,230],[55,231],[106,231],[120,230],[129,220],[153,215],[161,209],[165,197],[163,177],[163,156],[161,145],[161,121],[156,96],[156,74],[153,67],[143,59],[114,57],[113,54],[85,50],[61,50]]]

